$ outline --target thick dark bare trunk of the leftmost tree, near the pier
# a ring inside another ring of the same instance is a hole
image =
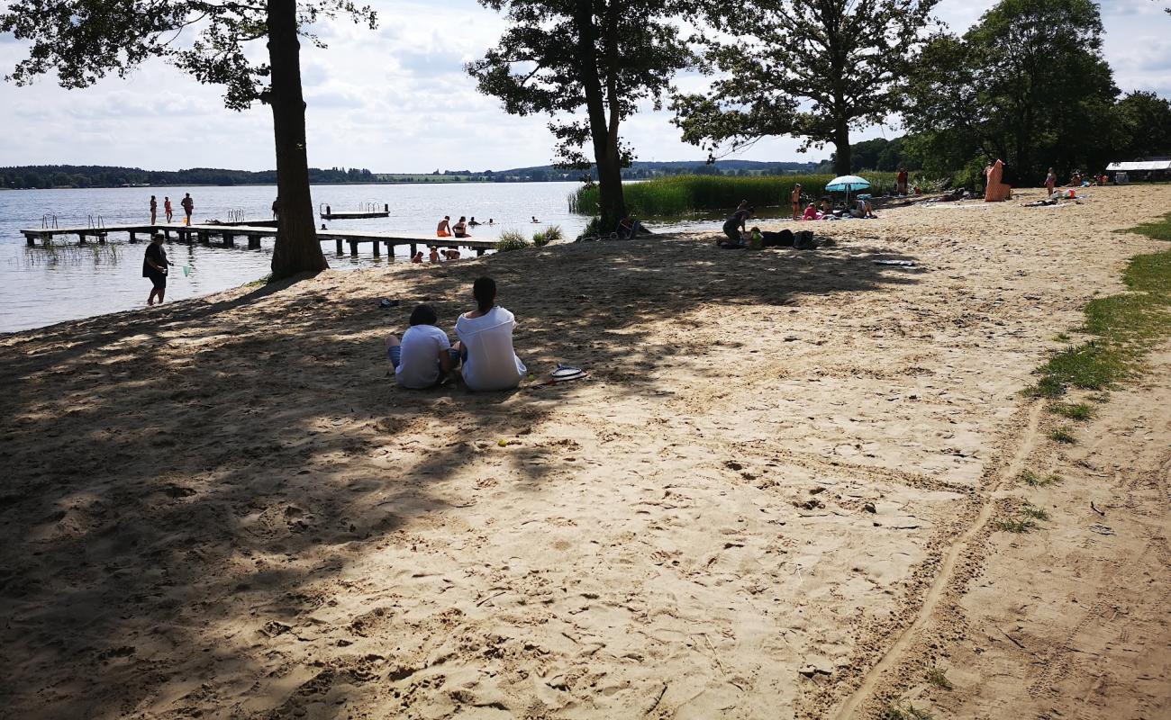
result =
[[[304,148],[304,97],[301,95],[301,42],[296,34],[296,0],[268,0],[268,62],[276,138],[276,194],[280,215],[273,248],[273,280],[329,267],[321,253],[309,193],[309,160]]]

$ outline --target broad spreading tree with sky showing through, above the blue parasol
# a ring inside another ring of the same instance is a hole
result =
[[[938,0],[745,0],[703,12],[731,41],[706,40],[710,92],[672,101],[683,139],[710,153],[742,149],[766,136],[833,143],[836,172],[850,171],[849,131],[882,123],[899,109],[896,85]],[[724,152],[726,155],[726,152]]]

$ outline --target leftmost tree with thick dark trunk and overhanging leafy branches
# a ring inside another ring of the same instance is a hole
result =
[[[56,71],[62,87],[85,88],[162,57],[199,82],[225,85],[231,109],[267,103],[281,198],[272,269],[280,279],[329,267],[309,194],[300,37],[324,47],[307,28],[337,15],[376,25],[374,11],[351,0],[13,0],[0,14],[0,32],[30,43],[7,76],[18,84]],[[261,41],[268,61],[253,62],[248,49]]]

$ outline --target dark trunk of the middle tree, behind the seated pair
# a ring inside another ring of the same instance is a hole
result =
[[[597,26],[594,25],[594,5],[577,0],[574,13],[577,23],[577,57],[582,88],[586,91],[586,111],[589,116],[594,162],[597,164],[598,211],[602,229],[612,232],[626,214],[622,194],[622,159],[618,157],[617,109],[611,108],[614,131],[605,116],[605,97],[597,67]],[[616,50],[614,50],[616,52]]]

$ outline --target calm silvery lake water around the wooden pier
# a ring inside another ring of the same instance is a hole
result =
[[[389,218],[327,221],[330,229],[433,233],[443,215],[451,215],[452,222],[459,215],[474,215],[481,222],[488,218],[495,220],[493,227],[475,228],[477,238],[495,238],[511,228],[532,235],[546,225],[560,225],[571,238],[586,225],[586,218],[569,213],[567,198],[576,186],[576,183],[322,185],[313,187],[313,199],[315,204],[328,203],[335,212],[356,211],[363,203],[390,206]],[[20,229],[41,227],[44,215],[56,215],[61,227],[87,227],[91,218],[96,222],[98,217],[108,226],[148,222],[152,194],[158,199],[160,222],[164,196],[170,196],[179,220],[183,218],[179,199],[184,192],[194,199],[196,222],[227,219],[234,211],[242,211],[246,219],[271,218],[276,197],[275,186],[0,191],[0,332],[144,307],[150,294],[150,281],[142,276],[145,242],[130,245],[126,235],[118,233],[111,235],[112,242],[104,248],[97,244],[78,247],[74,235],[61,238],[59,242],[66,247],[49,253],[40,246],[27,247]],[[533,215],[540,225],[533,225]],[[272,242],[266,239],[259,251],[169,244],[167,258],[176,267],[167,280],[167,302],[217,293],[265,276]],[[336,256],[333,241],[323,244],[322,249],[330,267],[336,269],[390,262],[385,254],[381,260],[371,258],[369,244],[359,246],[358,259],[351,259],[348,248],[345,256]],[[397,251],[393,261],[406,261],[409,251]]]

